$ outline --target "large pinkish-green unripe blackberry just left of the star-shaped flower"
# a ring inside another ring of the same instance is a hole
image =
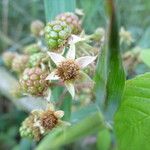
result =
[[[20,84],[25,93],[33,96],[43,96],[48,89],[46,79],[48,72],[39,67],[26,68],[20,79]]]

